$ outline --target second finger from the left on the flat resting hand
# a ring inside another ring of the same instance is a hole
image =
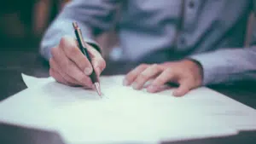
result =
[[[133,89],[142,89],[143,85],[148,82],[149,79],[154,78],[154,76],[160,72],[160,66],[157,64],[148,66],[148,68],[141,72],[135,79],[134,83],[132,84]]]

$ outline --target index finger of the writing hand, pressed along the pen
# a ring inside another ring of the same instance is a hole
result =
[[[92,72],[92,66],[86,56],[80,51],[77,43],[73,37],[62,37],[60,42],[60,48],[64,51],[64,54],[72,60],[79,69],[86,75],[90,75]]]

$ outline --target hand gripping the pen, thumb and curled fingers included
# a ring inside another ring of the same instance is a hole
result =
[[[96,71],[97,77],[106,66],[102,55],[89,44],[88,52],[92,66]],[[70,86],[84,86],[92,88],[89,78],[92,72],[90,61],[80,51],[76,40],[73,37],[62,37],[59,45],[51,49],[52,57],[49,59],[49,75],[61,84]]]

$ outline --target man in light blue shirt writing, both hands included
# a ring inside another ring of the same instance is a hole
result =
[[[256,48],[242,48],[253,4],[252,0],[74,0],[45,33],[41,54],[49,60],[49,73],[56,81],[90,87],[92,67],[79,52],[72,22],[79,22],[99,76],[106,65],[93,37],[114,25],[119,5],[116,25],[124,60],[157,63],[137,66],[126,75],[125,85],[142,89],[154,78],[148,92],[174,82],[179,87],[173,95],[181,96],[201,85],[256,79]]]

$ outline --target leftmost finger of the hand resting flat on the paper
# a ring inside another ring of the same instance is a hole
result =
[[[140,66],[137,66],[135,69],[133,69],[131,72],[129,72],[125,76],[123,84],[130,85],[131,83],[133,83],[133,81],[137,78],[137,75],[143,72],[147,67],[148,67],[147,64],[142,64]]]

